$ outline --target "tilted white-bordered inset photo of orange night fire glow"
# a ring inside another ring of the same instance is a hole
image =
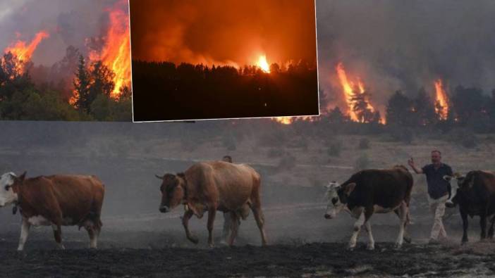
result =
[[[319,115],[314,1],[130,0],[135,122]]]

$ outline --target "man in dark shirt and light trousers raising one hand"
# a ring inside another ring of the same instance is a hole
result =
[[[451,195],[451,184],[444,179],[444,176],[452,176],[452,168],[441,162],[441,152],[438,150],[432,151],[432,164],[417,168],[413,158],[409,158],[408,164],[414,172],[427,177],[429,209],[434,215],[429,243],[437,243],[439,239],[447,238],[442,217],[445,213],[445,203]]]

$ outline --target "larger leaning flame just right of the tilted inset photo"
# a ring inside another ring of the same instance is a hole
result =
[[[337,64],[336,71],[346,99],[350,119],[355,122],[369,122],[369,117],[365,113],[357,112],[358,108],[360,108],[360,110],[364,110],[368,114],[375,113],[374,107],[369,103],[365,84],[359,78],[357,78],[357,82],[349,80],[342,63]],[[380,119],[379,122],[384,123],[384,120]]]

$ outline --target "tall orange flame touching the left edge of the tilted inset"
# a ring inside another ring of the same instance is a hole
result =
[[[109,11],[110,27],[101,53],[92,51],[91,61],[102,61],[115,73],[111,96],[118,99],[121,89],[130,86],[130,28],[127,1],[119,1]]]

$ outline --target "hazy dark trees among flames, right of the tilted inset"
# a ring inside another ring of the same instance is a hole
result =
[[[477,87],[458,85],[448,95],[448,107],[441,107],[420,88],[415,96],[408,96],[402,91],[395,91],[386,104],[385,115],[372,111],[367,106],[368,93],[355,93],[353,106],[350,109],[363,119],[363,122],[374,124],[380,122],[382,116],[387,126],[411,128],[467,127],[475,132],[495,131],[495,89],[485,94]],[[436,110],[447,110],[446,118],[441,118]],[[341,108],[334,108],[326,114],[331,122],[350,122],[350,118]]]

